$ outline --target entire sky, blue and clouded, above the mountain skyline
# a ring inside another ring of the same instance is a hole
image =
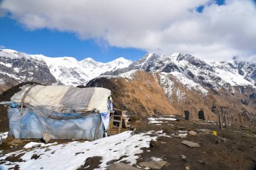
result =
[[[3,0],[0,48],[100,62],[138,60],[150,52],[256,60],[252,2]]]

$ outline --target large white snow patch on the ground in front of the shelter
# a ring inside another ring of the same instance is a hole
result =
[[[151,135],[151,136],[150,136]],[[0,165],[0,169],[9,169],[18,165],[20,169],[77,169],[84,165],[89,157],[102,157],[98,169],[106,169],[108,161],[127,161],[131,165],[137,163],[139,153],[143,153],[141,148],[149,148],[150,141],[156,140],[158,136],[167,136],[160,131],[150,131],[146,134],[133,134],[126,131],[115,136],[100,138],[92,142],[69,142],[67,144],[57,144],[48,147],[28,148],[26,150],[8,153],[0,157],[3,161],[11,155],[18,156],[24,154],[22,162],[10,163],[5,161]],[[170,137],[170,136],[168,136]],[[39,143],[40,144],[40,143]],[[30,145],[33,145],[30,143]],[[46,149],[47,148],[47,149]],[[38,159],[31,159],[32,155],[37,155]]]

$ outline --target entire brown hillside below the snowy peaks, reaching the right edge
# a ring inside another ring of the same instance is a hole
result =
[[[141,116],[184,114],[184,110],[191,112],[191,117],[197,119],[199,110],[203,109],[206,120],[218,121],[218,113],[224,113],[228,124],[238,126],[256,126],[256,110],[252,99],[246,93],[225,89],[218,92],[207,89],[203,95],[195,89],[187,89],[172,75],[167,75],[172,81],[170,85],[160,82],[160,73],[136,71],[130,79],[123,77],[100,77],[93,79],[87,87],[105,87],[113,94],[116,108],[128,110]],[[164,89],[171,89],[168,93]],[[251,93],[251,89],[247,91]],[[251,104],[241,103],[241,99],[249,100]]]

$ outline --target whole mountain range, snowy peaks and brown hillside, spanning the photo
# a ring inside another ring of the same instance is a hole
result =
[[[226,113],[230,124],[256,124],[256,65],[234,57],[206,62],[190,54],[146,54],[132,62],[117,58],[102,63],[86,58],[51,58],[0,50],[0,90],[34,81],[45,85],[106,87],[115,107],[133,114],[183,114],[207,120]]]

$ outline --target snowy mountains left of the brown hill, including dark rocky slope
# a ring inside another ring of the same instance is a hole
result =
[[[41,54],[31,55],[5,49],[0,50],[0,83],[3,90],[25,81],[43,84],[86,85],[90,79],[106,71],[122,69],[130,64],[131,60],[123,57],[102,63],[92,58],[78,61],[67,56],[51,58]]]

